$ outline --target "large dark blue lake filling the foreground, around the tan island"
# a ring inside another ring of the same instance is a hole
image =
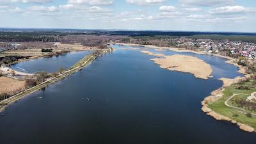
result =
[[[237,68],[223,58],[182,54],[207,61],[214,77],[171,72],[153,56],[117,50],[8,106],[1,143],[254,144],[255,133],[201,111],[204,97],[221,87],[219,77],[241,76]]]

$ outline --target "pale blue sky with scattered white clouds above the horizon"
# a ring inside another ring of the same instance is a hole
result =
[[[256,32],[255,0],[0,0],[0,28]]]

